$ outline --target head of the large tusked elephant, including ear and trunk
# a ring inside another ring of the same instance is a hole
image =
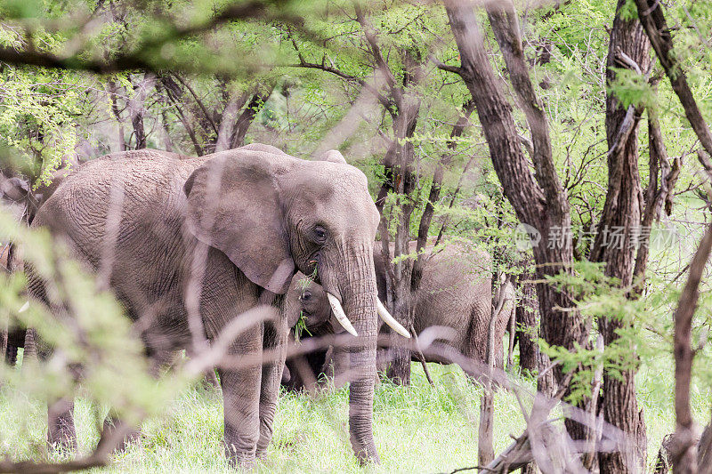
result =
[[[255,284],[287,293],[295,270],[327,293],[352,346],[352,446],[378,460],[372,431],[376,377],[376,275],[379,214],[366,176],[337,151],[325,161],[289,157],[264,145],[215,154],[183,187],[188,226]]]

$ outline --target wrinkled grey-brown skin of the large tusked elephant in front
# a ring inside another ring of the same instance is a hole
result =
[[[142,332],[158,362],[190,345],[185,288],[200,248],[207,248],[207,255],[199,317],[208,339],[263,301],[279,305],[281,297],[270,295],[286,293],[297,269],[316,272],[359,333],[352,349],[359,376],[351,385],[351,441],[361,462],[377,462],[372,243],[378,213],[363,173],[337,153],[327,158],[330,163],[305,161],[267,145],[199,158],[155,150],[117,153],[69,176],[40,208],[33,226],[65,237],[80,260],[98,269],[106,254],[107,215],[116,207],[109,205],[111,189],[123,185],[110,284],[129,317],[158,310]],[[29,291],[46,301],[36,278]],[[286,338],[287,320],[279,317],[272,325],[240,333],[229,355],[284,349]],[[283,365],[284,358],[263,368],[218,369],[225,454],[231,462],[250,466],[268,446]],[[61,410],[50,410],[50,441],[76,446],[71,403],[54,406]]]

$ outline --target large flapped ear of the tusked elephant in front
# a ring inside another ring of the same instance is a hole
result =
[[[183,190],[190,232],[225,253],[256,285],[284,294],[295,263],[289,253],[273,157],[221,153],[193,172]]]

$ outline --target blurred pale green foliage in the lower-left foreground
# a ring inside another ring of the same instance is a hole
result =
[[[0,241],[8,240],[20,245],[25,265],[45,282],[51,309],[30,301],[29,309],[20,312],[27,301],[26,276],[0,272],[0,327],[32,327],[38,350],[47,357],[44,364],[26,358],[21,371],[0,365],[4,403],[28,414],[33,403],[81,395],[100,411],[110,406],[126,422],[141,423],[147,416],[162,414],[178,391],[193,381],[190,374],[166,374],[158,381],[150,375],[142,341],[124,309],[101,282],[69,258],[61,242],[0,211]],[[101,426],[101,418],[95,422]],[[23,449],[22,443],[36,443],[27,436],[25,430],[2,432],[0,445],[10,443],[17,451]],[[44,445],[32,449],[38,446]]]

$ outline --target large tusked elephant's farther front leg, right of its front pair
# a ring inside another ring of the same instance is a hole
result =
[[[257,442],[257,455],[261,456],[270,445],[274,430],[274,413],[277,410],[279,383],[284,372],[287,356],[287,317],[264,324],[264,356],[262,369],[262,388],[260,390],[260,440]]]

